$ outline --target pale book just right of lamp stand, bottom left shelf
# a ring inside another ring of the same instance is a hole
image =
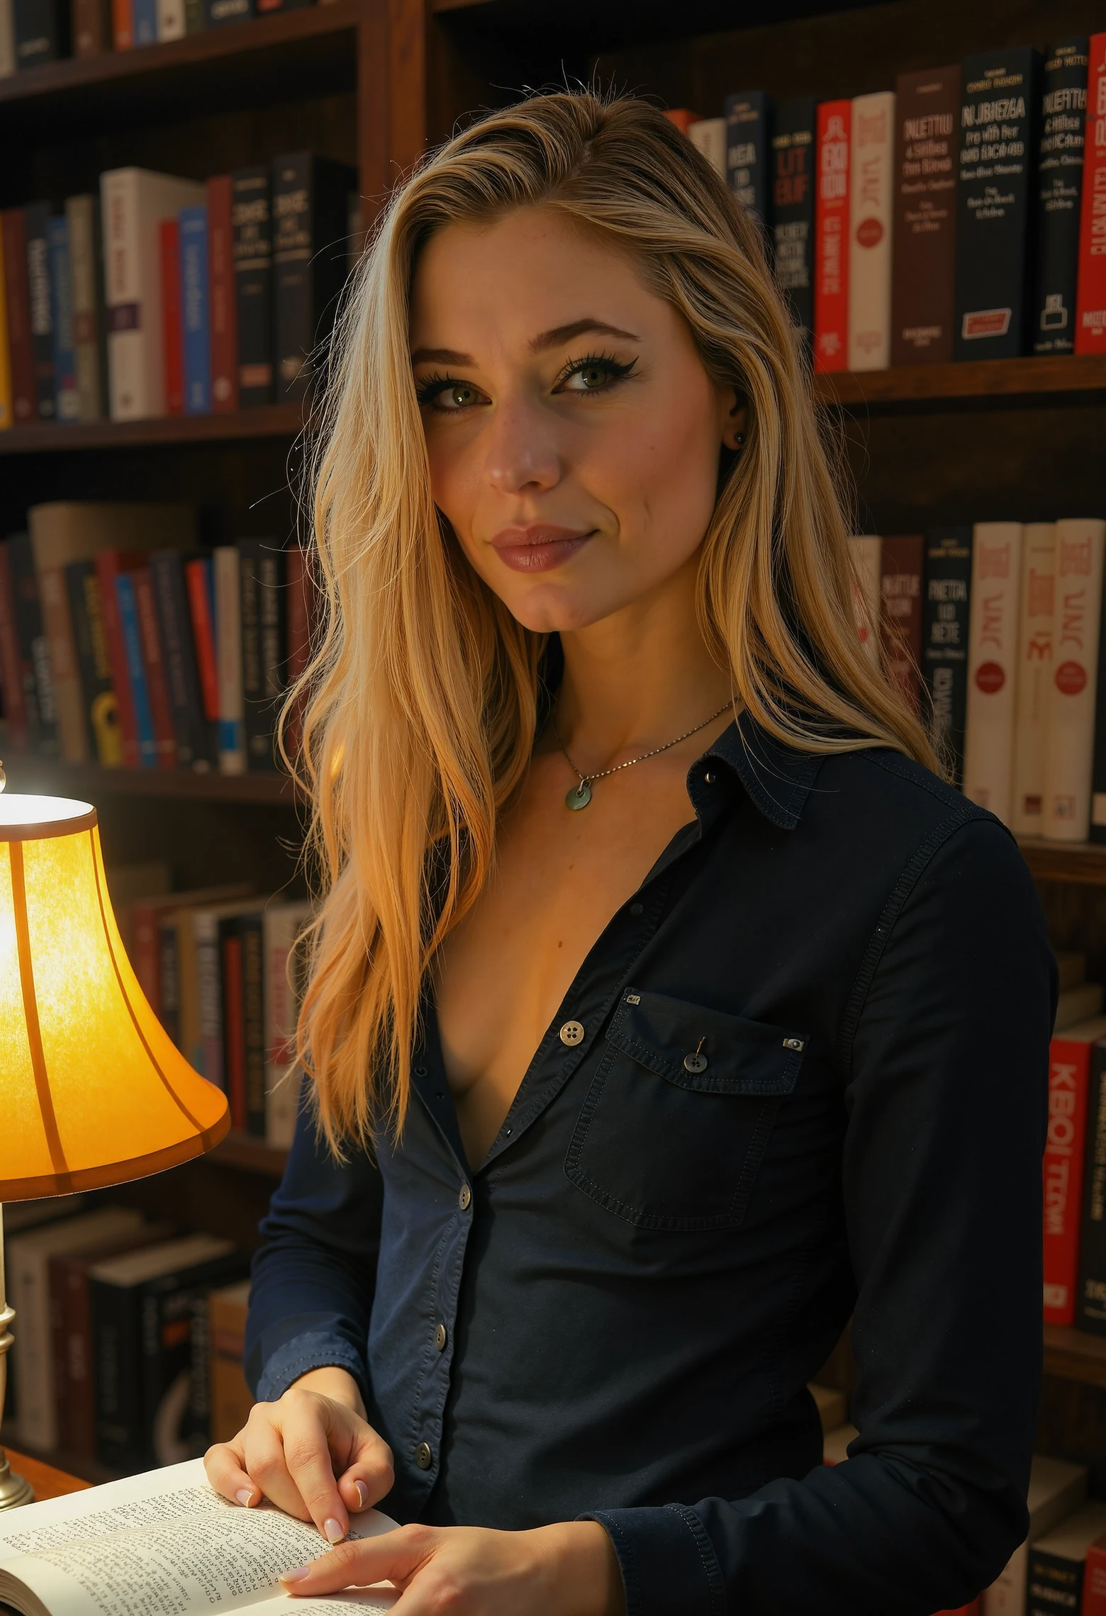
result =
[[[29,1448],[49,1450],[58,1445],[53,1408],[53,1353],[50,1348],[50,1257],[92,1251],[116,1235],[129,1235],[142,1227],[142,1214],[133,1207],[102,1207],[82,1212],[61,1223],[27,1230],[8,1241],[8,1301],[16,1311],[11,1354],[19,1375],[19,1441]]]

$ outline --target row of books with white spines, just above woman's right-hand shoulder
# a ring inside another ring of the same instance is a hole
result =
[[[852,540],[862,638],[1019,835],[1106,840],[1104,546],[1098,519]]]

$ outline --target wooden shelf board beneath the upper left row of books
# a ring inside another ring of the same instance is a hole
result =
[[[289,13],[299,16],[298,11]],[[150,47],[154,48],[154,47]],[[5,81],[0,79],[0,84]],[[259,404],[226,415],[158,415],[152,420],[36,422],[0,431],[0,454],[73,454],[87,449],[139,449],[165,443],[246,443],[294,438],[304,425],[301,404]]]

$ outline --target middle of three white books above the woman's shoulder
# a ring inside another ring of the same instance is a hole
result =
[[[1045,824],[1048,693],[1053,688],[1056,524],[1027,522],[1022,537],[1022,604],[1014,695],[1014,819],[1017,835]]]

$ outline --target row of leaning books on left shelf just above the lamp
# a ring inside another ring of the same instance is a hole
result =
[[[302,549],[205,551],[183,506],[58,501],[32,506],[27,525],[0,543],[0,695],[16,751],[278,768],[276,714],[310,654]]]

